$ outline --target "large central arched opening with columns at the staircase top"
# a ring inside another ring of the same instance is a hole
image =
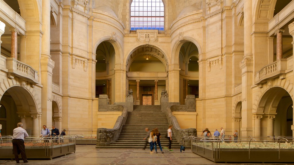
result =
[[[153,45],[137,47],[127,58],[126,70],[134,104],[160,105],[161,91],[168,90],[168,60],[164,53]]]

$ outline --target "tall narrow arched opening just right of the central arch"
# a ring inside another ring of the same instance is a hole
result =
[[[192,42],[185,42],[179,52],[180,70],[180,103],[185,104],[187,95],[199,97],[199,52],[197,46]]]

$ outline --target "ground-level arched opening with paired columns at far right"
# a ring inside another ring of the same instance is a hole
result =
[[[268,89],[258,103],[257,112],[253,113],[254,136],[292,136],[290,126],[293,125],[292,105],[293,100],[285,89],[281,87]]]

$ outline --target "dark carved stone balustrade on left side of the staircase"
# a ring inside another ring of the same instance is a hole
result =
[[[109,111],[122,111],[112,129],[98,128],[96,147],[109,146],[117,141],[121,128],[126,122],[128,116],[128,108],[124,105],[108,105]]]

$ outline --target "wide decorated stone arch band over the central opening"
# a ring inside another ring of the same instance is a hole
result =
[[[161,62],[166,65],[166,70],[168,70],[168,65],[170,64],[170,59],[166,56],[166,51],[158,44],[149,44],[148,46],[144,43],[138,43],[137,45],[133,46],[130,51],[127,53],[127,56],[124,58],[124,64],[126,64],[126,70],[128,70],[130,64],[133,62],[134,57],[140,55],[137,54],[136,51],[140,48],[146,48],[148,49],[148,53],[154,55],[157,57]],[[150,51],[149,51],[150,50]],[[156,50],[156,51],[153,51]]]

